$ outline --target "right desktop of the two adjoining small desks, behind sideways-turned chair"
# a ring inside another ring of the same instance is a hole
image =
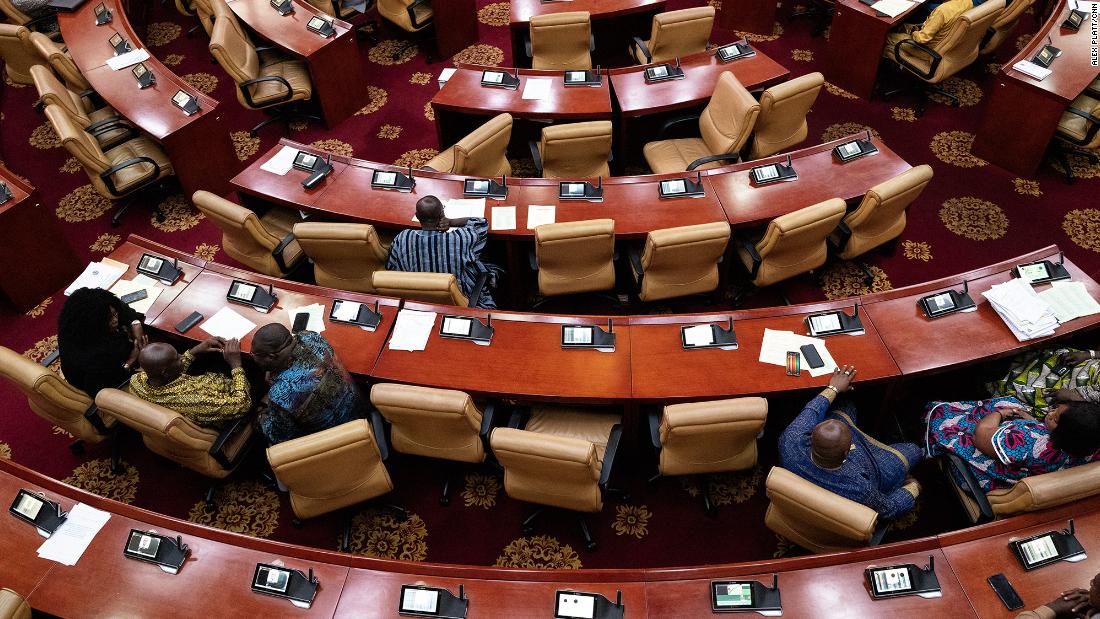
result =
[[[729,71],[749,90],[762,90],[785,80],[791,71],[763,51],[756,56],[723,63],[714,49],[680,58],[683,79],[646,84],[646,67],[637,65],[610,69],[615,100],[624,117],[640,117],[698,106],[711,99],[722,74]]]

